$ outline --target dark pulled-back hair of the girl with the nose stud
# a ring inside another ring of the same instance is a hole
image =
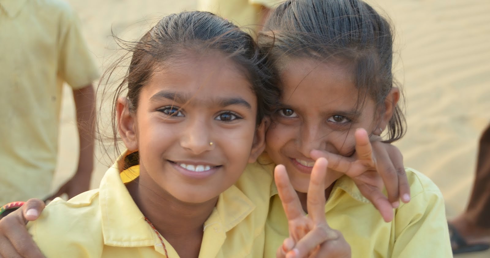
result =
[[[120,40],[121,41],[121,40]],[[113,97],[112,134],[117,142],[116,103],[127,91],[129,111],[138,107],[141,89],[153,76],[155,69],[171,66],[172,60],[188,53],[205,54],[213,51],[223,53],[233,60],[249,79],[257,97],[257,124],[270,115],[277,106],[279,90],[275,87],[273,73],[268,66],[267,55],[253,38],[231,22],[210,12],[181,12],[161,19],[137,42],[123,42],[129,50],[131,62],[123,81]],[[125,60],[125,55],[120,62]],[[119,64],[104,75],[106,83]],[[105,95],[105,91],[102,95]],[[117,145],[115,146],[117,151]],[[107,149],[106,149],[107,152]]]

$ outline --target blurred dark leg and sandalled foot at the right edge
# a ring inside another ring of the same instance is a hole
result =
[[[448,225],[454,254],[490,248],[490,125],[480,138],[475,182],[468,206]]]

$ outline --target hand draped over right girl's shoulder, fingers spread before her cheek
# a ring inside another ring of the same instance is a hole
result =
[[[324,157],[329,160],[328,167],[352,178],[361,193],[379,210],[386,222],[393,220],[393,208],[398,207],[400,197],[405,203],[410,201],[408,183],[403,156],[393,145],[383,143],[379,136],[370,142],[365,129],[357,129],[356,152],[352,157],[344,157],[325,151],[314,150],[311,157]],[[388,198],[382,193],[383,183]]]

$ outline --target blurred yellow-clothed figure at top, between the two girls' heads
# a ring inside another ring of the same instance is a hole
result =
[[[238,26],[262,29],[270,9],[282,0],[197,0],[197,9],[217,13]]]

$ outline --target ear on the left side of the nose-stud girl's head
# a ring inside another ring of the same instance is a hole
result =
[[[118,118],[118,132],[128,151],[138,151],[138,138],[136,134],[136,118],[129,113],[127,98],[119,98],[116,104]]]

